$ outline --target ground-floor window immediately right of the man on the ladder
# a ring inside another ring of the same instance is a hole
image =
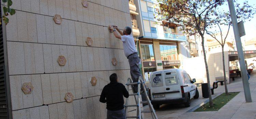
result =
[[[142,61],[155,61],[153,45],[141,44],[140,49],[141,49]]]

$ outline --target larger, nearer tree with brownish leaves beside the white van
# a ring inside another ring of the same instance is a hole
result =
[[[158,0],[158,2],[162,3],[160,4],[160,10],[158,11],[158,20],[164,19],[168,22],[182,23],[186,26],[181,28],[184,33],[188,35],[199,34],[201,36],[208,82],[209,103],[210,106],[213,106],[203,36],[206,29],[214,21],[212,18],[214,11],[217,6],[224,3],[224,0]]]

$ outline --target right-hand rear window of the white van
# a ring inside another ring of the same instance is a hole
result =
[[[176,72],[165,73],[165,85],[173,86],[178,84]]]

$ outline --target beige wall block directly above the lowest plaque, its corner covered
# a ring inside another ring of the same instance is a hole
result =
[[[66,73],[68,92],[71,92],[75,98],[75,84],[73,73]]]

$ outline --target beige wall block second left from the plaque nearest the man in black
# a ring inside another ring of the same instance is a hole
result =
[[[81,99],[83,98],[83,94],[82,94],[80,73],[75,72],[73,73],[73,76],[74,76],[74,84],[75,84],[75,99]]]

